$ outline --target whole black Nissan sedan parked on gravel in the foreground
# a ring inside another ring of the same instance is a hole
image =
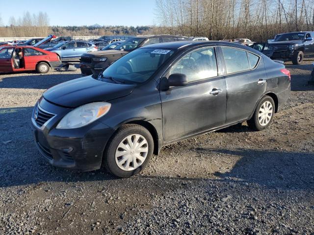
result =
[[[265,129],[289,93],[285,66],[250,47],[155,44],[46,91],[32,129],[53,165],[130,177],[167,144],[243,121]]]

